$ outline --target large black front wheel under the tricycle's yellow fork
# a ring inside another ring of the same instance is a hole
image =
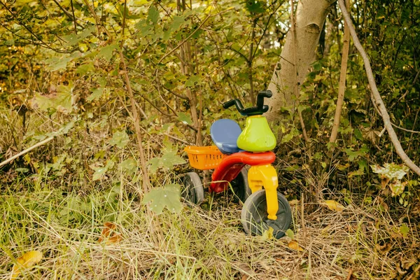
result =
[[[258,190],[248,197],[241,213],[242,225],[248,235],[262,235],[269,227],[273,228],[273,235],[276,239],[285,235],[292,221],[292,209],[290,209],[286,197],[278,192],[277,201],[279,202],[277,219],[269,220],[265,190]]]

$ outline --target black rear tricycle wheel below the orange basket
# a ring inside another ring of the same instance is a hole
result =
[[[204,200],[204,188],[200,176],[195,172],[182,175],[181,197],[193,204],[200,204]]]

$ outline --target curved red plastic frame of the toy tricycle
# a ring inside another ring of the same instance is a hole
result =
[[[276,160],[273,152],[233,153],[223,158],[211,175],[210,192],[221,193],[228,188],[228,182],[235,179],[245,165],[270,165]]]

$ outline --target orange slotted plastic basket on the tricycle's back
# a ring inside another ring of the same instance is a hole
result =
[[[184,151],[188,153],[190,165],[196,169],[215,169],[225,155],[216,146],[187,146]]]

